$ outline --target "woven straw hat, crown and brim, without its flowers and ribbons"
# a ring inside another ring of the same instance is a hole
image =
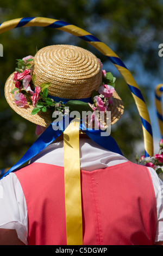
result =
[[[15,73],[15,72],[14,72]],[[32,115],[32,104],[19,107],[14,102],[15,88],[14,73],[5,83],[5,97],[12,109],[23,118],[48,127],[52,120],[49,111]],[[36,75],[35,86],[51,82],[48,87],[49,96],[64,99],[82,100],[92,96],[102,86],[102,70],[97,57],[90,51],[72,45],[52,45],[43,47],[34,57],[34,70]],[[109,105],[111,111],[111,124],[115,124],[123,114],[123,103],[116,92],[112,94],[113,103]]]

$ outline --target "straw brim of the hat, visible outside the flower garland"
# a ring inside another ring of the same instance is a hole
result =
[[[10,107],[14,109],[14,111],[17,114],[21,115],[23,118],[31,121],[32,123],[41,125],[43,127],[48,127],[52,123],[48,109],[47,109],[47,112],[40,111],[39,113],[32,115],[31,113],[34,106],[28,105],[25,107],[18,107],[15,104],[14,94],[11,93],[11,91],[15,89],[15,84],[13,82],[14,73],[12,73],[9,76],[4,87],[5,98],[9,103]],[[113,93],[112,99],[113,99],[113,103],[109,105],[109,111],[111,111],[111,125],[115,124],[121,118],[124,111],[123,102],[120,96],[118,96],[116,92]]]

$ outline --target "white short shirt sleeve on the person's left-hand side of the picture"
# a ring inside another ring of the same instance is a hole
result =
[[[0,228],[16,229],[18,238],[28,245],[27,205],[14,173],[0,180]]]

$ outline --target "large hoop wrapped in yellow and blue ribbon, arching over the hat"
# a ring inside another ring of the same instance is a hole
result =
[[[96,38],[96,36],[86,32],[84,29],[64,21],[45,17],[23,17],[20,19],[5,21],[0,24],[0,33],[9,31],[13,28],[31,26],[51,27],[76,35],[97,48],[99,52],[104,54],[106,58],[108,58],[116,66],[117,70],[127,82],[131,94],[134,97],[137,110],[140,114],[145,144],[145,156],[153,156],[153,133],[145,100],[130,71],[127,69],[126,65],[124,65],[122,60],[116,55],[116,53],[114,53],[114,51],[106,46],[101,40]]]

